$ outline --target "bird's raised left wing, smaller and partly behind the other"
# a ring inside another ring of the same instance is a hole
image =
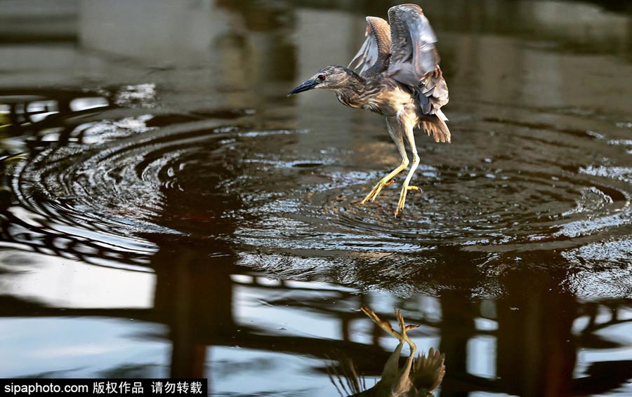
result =
[[[349,67],[359,69],[360,74],[372,69],[376,73],[386,69],[390,55],[390,27],[382,18],[367,17],[367,39],[364,40],[360,51],[349,62]],[[355,64],[355,66],[353,66]],[[376,70],[379,69],[379,70]]]

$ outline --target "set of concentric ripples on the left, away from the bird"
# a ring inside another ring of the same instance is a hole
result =
[[[241,134],[198,121],[47,149],[18,168],[13,189],[22,206],[62,224],[122,235],[188,234],[191,224],[230,208],[218,203],[230,196],[218,185],[232,172],[224,157]]]

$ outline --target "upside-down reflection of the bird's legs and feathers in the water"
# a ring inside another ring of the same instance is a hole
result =
[[[397,332],[388,321],[381,320],[381,318],[368,307],[361,307],[360,309],[380,328],[388,332],[389,335],[397,338],[400,344],[397,345],[393,354],[391,354],[388,361],[386,361],[380,380],[375,386],[371,387],[371,389],[364,391],[361,390],[362,386],[360,385],[353,362],[351,362],[350,359],[341,360],[342,376],[346,378],[346,384],[349,386],[353,396],[432,397],[433,391],[441,384],[445,375],[445,356],[440,354],[439,351],[430,348],[428,356],[420,354],[415,359],[414,356],[417,348],[414,342],[408,337],[407,331],[417,328],[417,325],[404,325],[404,317],[400,311],[395,311],[397,322],[400,325],[400,331]],[[410,356],[406,359],[404,366],[399,368],[400,354],[402,353],[404,342],[407,342],[410,346]],[[341,375],[335,372],[333,368],[332,371],[334,371],[334,375],[336,375],[338,379],[338,384],[346,391]],[[336,384],[333,377],[331,377],[331,380]],[[338,386],[336,385],[336,387]]]

